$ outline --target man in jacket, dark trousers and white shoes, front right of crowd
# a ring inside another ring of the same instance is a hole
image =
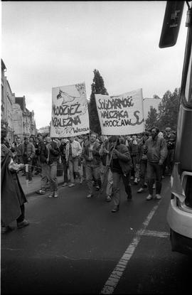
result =
[[[146,200],[153,198],[154,175],[156,177],[156,199],[161,199],[161,176],[162,166],[166,159],[167,148],[166,141],[158,136],[159,129],[157,127],[151,128],[151,136],[144,144],[144,154],[147,157],[146,174],[148,180],[149,195]]]

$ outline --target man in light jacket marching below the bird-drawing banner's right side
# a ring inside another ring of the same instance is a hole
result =
[[[69,137],[69,142],[66,145],[65,150],[65,158],[70,171],[70,184],[68,186],[69,188],[75,186],[74,173],[75,176],[78,176],[78,178],[80,179],[80,183],[82,183],[82,176],[79,172],[79,157],[81,154],[82,147],[79,141],[76,141],[73,136]]]

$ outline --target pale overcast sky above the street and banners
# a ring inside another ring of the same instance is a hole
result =
[[[166,1],[1,2],[1,58],[36,127],[51,119],[52,87],[85,82],[93,70],[109,95],[142,88],[144,97],[181,86],[186,4],[174,47],[159,48]]]

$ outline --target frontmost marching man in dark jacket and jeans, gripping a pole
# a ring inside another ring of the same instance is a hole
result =
[[[124,183],[124,188],[127,193],[127,200],[132,200],[132,188],[130,184],[130,172],[132,158],[129,154],[127,146],[120,144],[119,136],[111,136],[110,142],[112,143],[110,154],[112,156],[110,168],[113,178],[113,192],[114,192],[114,208],[112,212],[115,213],[119,210],[120,204],[120,180]]]

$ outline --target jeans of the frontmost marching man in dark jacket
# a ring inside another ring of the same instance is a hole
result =
[[[127,173],[126,176],[124,176],[123,174],[119,174],[117,172],[112,172],[112,178],[113,178],[114,205],[119,206],[121,178],[124,183],[124,189],[127,193],[127,198],[132,198],[132,188],[131,188],[131,184],[130,184],[130,172]]]

